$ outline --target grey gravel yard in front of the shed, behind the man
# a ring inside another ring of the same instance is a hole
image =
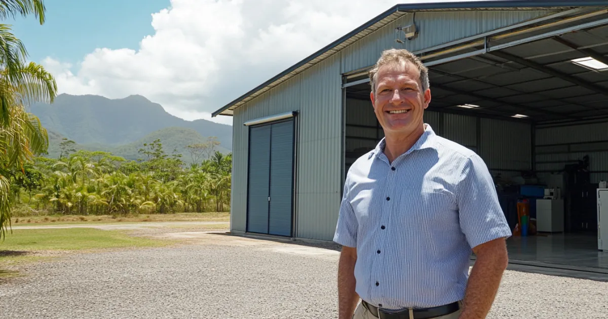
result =
[[[338,252],[204,233],[75,254],[0,286],[8,318],[337,318]],[[491,318],[607,318],[608,283],[507,271]]]

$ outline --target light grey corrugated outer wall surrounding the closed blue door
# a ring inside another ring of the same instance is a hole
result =
[[[342,186],[341,84],[340,57],[337,55],[235,110],[232,230],[246,230],[249,137],[248,129],[242,123],[299,110],[295,235],[314,239],[333,237]]]

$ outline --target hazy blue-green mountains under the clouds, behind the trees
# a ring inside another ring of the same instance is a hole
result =
[[[215,149],[221,153],[232,150],[232,126],[184,120],[141,95],[110,99],[60,94],[50,105],[31,105],[30,112],[49,132],[48,157],[59,156],[64,139],[74,141],[75,149],[109,151],[126,159],[139,158],[137,150],[155,139],[161,139],[165,153],[176,149],[184,160],[190,157],[186,146],[205,143],[208,137],[216,137],[220,144]]]

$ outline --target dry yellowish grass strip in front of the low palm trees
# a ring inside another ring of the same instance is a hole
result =
[[[190,222],[190,221],[230,221],[230,213],[175,213],[175,214],[133,214],[113,217],[80,215],[24,216],[11,218],[13,226],[18,225],[58,225],[58,224],[97,224],[115,222]],[[1,244],[0,244],[1,245]]]

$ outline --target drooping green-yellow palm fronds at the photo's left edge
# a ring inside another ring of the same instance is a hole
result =
[[[35,15],[44,24],[42,0],[0,0],[0,18]],[[22,170],[25,162],[46,151],[49,137],[40,120],[26,111],[34,102],[52,103],[57,84],[44,67],[26,63],[27,51],[11,32],[0,24],[0,238],[10,225],[11,170]]]

